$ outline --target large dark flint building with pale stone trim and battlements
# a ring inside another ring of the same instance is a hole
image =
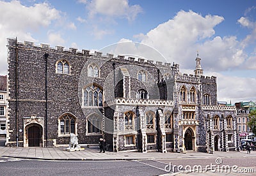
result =
[[[106,139],[109,150],[238,150],[236,108],[217,106],[216,77],[178,64],[8,39],[8,146]]]

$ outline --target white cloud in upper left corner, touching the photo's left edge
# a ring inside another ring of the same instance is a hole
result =
[[[36,41],[33,32],[48,27],[60,18],[60,11],[47,3],[24,6],[20,1],[0,1],[0,75],[7,70],[6,38],[17,37],[19,41]]]

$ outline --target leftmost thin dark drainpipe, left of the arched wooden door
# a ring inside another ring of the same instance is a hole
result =
[[[19,102],[18,102],[18,86],[19,86],[19,78],[18,78],[18,61],[19,61],[19,52],[18,52],[18,41],[16,37],[16,42],[15,42],[15,51],[16,51],[16,60],[15,60],[15,124],[16,124],[16,145],[19,147]]]

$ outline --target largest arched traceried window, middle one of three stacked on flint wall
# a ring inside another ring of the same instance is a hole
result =
[[[99,86],[95,84],[88,85],[83,89],[83,97],[84,97],[83,105],[84,106],[103,106],[102,96],[103,96],[103,91]]]

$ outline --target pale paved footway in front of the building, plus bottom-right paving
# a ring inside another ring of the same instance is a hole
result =
[[[100,153],[99,149],[87,148],[84,150],[68,152],[65,148],[43,148],[43,147],[0,147],[1,157],[22,158],[22,159],[45,159],[63,161],[118,161],[118,160],[137,160],[137,159],[177,159],[177,158],[252,158],[256,157],[256,151],[246,154],[241,152],[214,152],[214,154],[202,152],[187,152],[186,154],[177,152],[108,152]],[[256,172],[256,166],[254,167]],[[252,173],[251,173],[252,174]],[[255,174],[255,173],[254,173]],[[198,175],[198,173],[171,173],[168,175]],[[200,173],[200,175],[227,175],[227,173]],[[233,173],[232,175],[236,175]],[[239,173],[237,173],[239,175]],[[240,174],[241,175],[241,174]],[[245,174],[246,175],[246,174]]]

